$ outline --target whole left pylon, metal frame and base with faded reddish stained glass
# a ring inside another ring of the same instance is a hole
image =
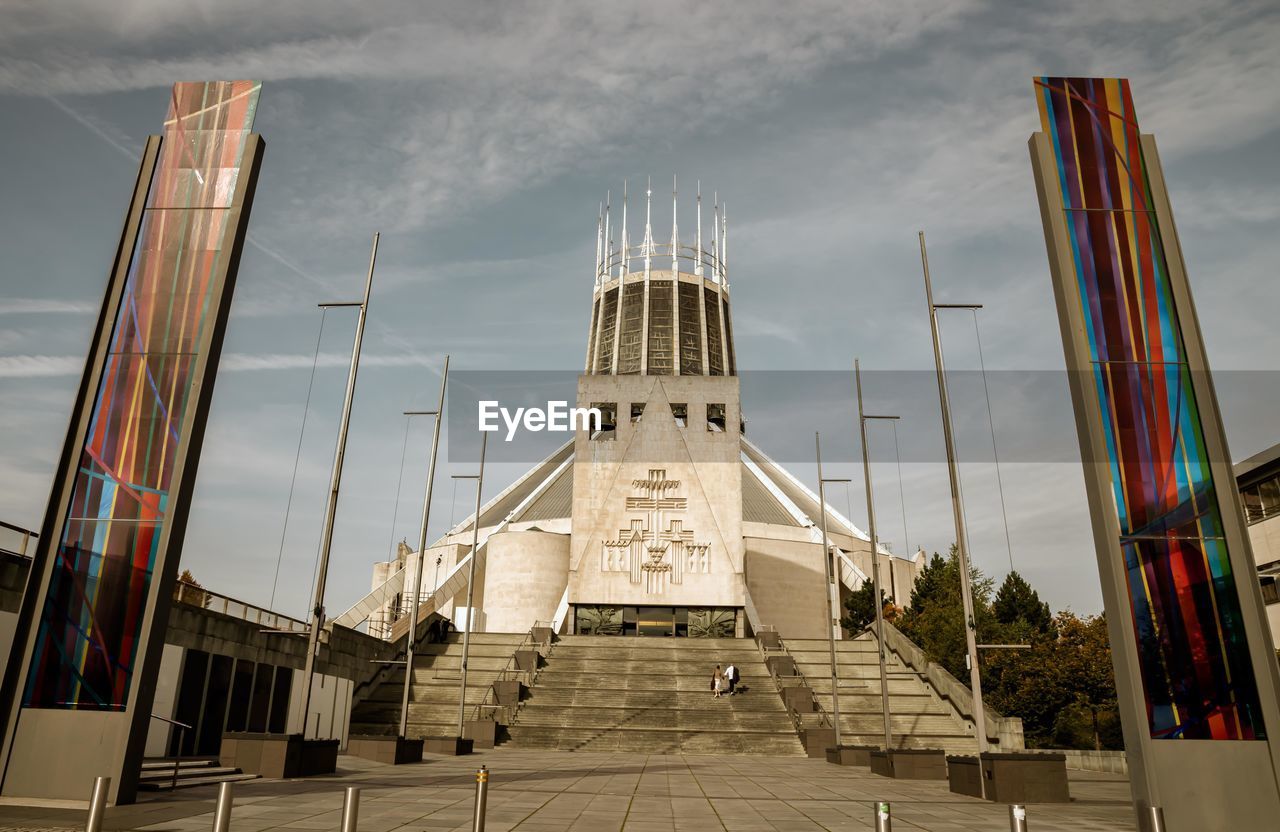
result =
[[[108,774],[132,800],[262,155],[260,90],[174,84],[143,152],[5,673],[6,796],[83,799]]]

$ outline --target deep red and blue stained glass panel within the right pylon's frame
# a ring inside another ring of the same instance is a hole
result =
[[[1129,82],[1037,78],[1128,579],[1151,736],[1266,737]],[[1231,484],[1228,485],[1231,488]]]

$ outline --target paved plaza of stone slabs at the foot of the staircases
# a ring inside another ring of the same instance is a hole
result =
[[[573,829],[872,829],[872,803],[892,804],[893,828],[1009,829],[1009,810],[952,795],[945,782],[892,781],[864,768],[763,756],[518,751],[383,765],[340,756],[338,774],[236,785],[233,832],[338,829],[344,786],[360,786],[361,832],[471,829],[475,771],[492,772],[488,832]],[[106,829],[212,827],[215,787],[161,794],[108,810]],[[1133,831],[1128,782],[1071,772],[1071,804],[1028,808],[1034,832]],[[83,828],[84,812],[0,805],[0,829]]]

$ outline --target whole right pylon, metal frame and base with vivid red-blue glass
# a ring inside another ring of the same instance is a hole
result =
[[[1248,828],[1280,812],[1280,680],[1155,138],[1125,79],[1034,90],[1032,164],[1134,796],[1170,829],[1235,828],[1222,812]]]

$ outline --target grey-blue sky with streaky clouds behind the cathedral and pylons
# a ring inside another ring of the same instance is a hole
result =
[[[823,430],[844,461],[833,475],[860,477],[849,376],[836,372],[855,355],[899,371],[868,390],[869,410],[904,416],[901,500],[896,466],[876,468],[897,552],[952,538],[936,398],[897,396],[932,369],[915,238],[927,230],[937,300],[984,303],[988,370],[1037,371],[1034,394],[1000,381],[1019,374],[992,383],[1012,561],[1055,608],[1100,609],[1070,401],[1052,375],[1061,342],[1025,148],[1036,74],[1133,81],[1233,456],[1280,440],[1275,4],[431,5],[0,4],[0,518],[40,526],[137,157],[179,79],[264,82],[252,242],[183,561],[248,602],[308,605],[353,328],[334,311],[320,333],[315,305],[358,296],[375,230],[329,582],[338,611],[369,586],[370,562],[415,535],[429,433],[406,433],[401,411],[434,402],[442,356],[458,370],[576,371],[599,201],[653,175],[669,237],[678,174],[682,218],[698,179],[728,204],[739,366],[780,371],[744,379],[765,452],[812,481],[808,443]],[[954,315],[948,365],[973,370],[973,317]],[[778,381],[800,371],[815,372]],[[1000,577],[1010,554],[980,378],[957,376],[955,396],[974,557]],[[876,458],[892,454],[892,434],[873,438]],[[472,470],[465,457],[454,449],[443,474]],[[518,470],[493,466],[486,497]],[[470,503],[443,474],[433,534]],[[860,486],[833,500],[865,522]]]

